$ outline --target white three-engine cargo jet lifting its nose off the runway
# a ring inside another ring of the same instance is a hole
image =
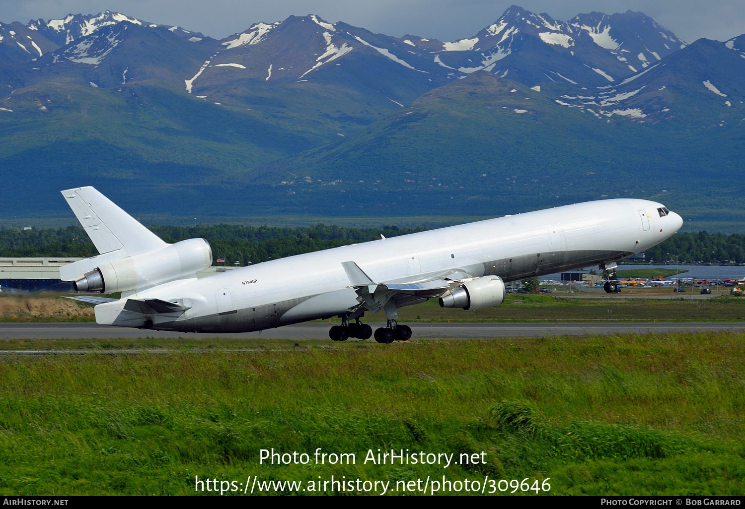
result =
[[[360,318],[384,310],[375,340],[407,340],[399,307],[439,298],[478,310],[504,301],[504,282],[616,261],[671,237],[682,218],[643,199],[606,199],[298,254],[197,279],[212,265],[204,239],[165,243],[95,188],[62,191],[98,256],[60,268],[95,304],[99,324],[235,333],[341,318],[337,341],[369,339]],[[382,236],[381,236],[382,237]],[[606,283],[606,291],[615,291]]]

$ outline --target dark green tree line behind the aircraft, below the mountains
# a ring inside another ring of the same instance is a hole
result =
[[[225,258],[227,265],[239,265],[329,249],[346,244],[421,231],[422,228],[345,228],[317,224],[299,228],[244,225],[151,226],[150,229],[166,242],[194,237],[205,238],[217,260]],[[83,228],[21,228],[0,229],[0,257],[91,257],[98,252]],[[703,262],[745,263],[744,234],[676,234],[659,246],[647,249],[645,261],[651,263]]]

